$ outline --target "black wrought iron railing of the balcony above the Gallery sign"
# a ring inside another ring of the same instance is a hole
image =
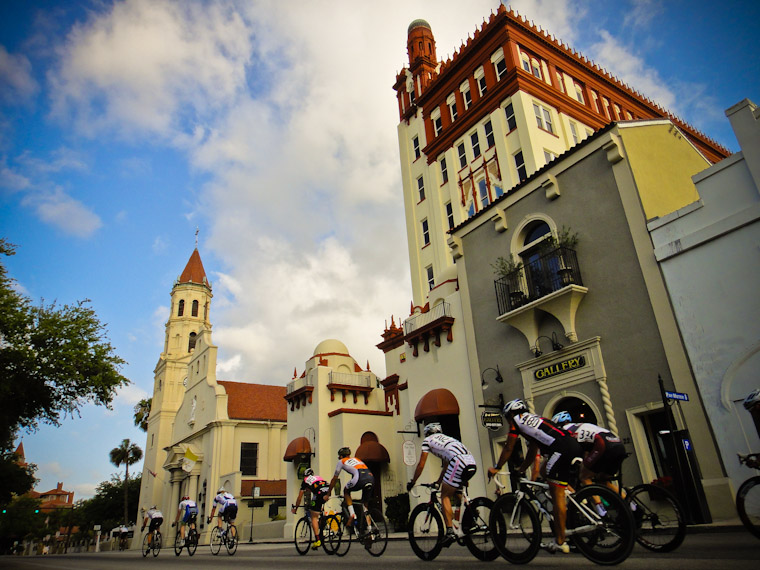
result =
[[[569,285],[583,285],[575,250],[558,247],[494,281],[503,315]]]

